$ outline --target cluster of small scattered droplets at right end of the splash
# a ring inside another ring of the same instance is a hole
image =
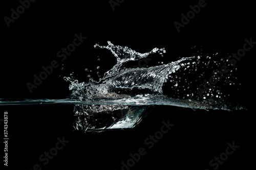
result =
[[[237,71],[228,60],[219,59],[223,56],[215,53],[208,56],[197,56],[190,63],[180,64],[175,74],[168,75],[163,86],[166,95],[175,99],[190,100],[226,100],[237,90]],[[217,57],[218,56],[218,57]],[[225,66],[229,71],[220,72]],[[216,82],[210,84],[213,77]],[[168,90],[166,87],[170,87]]]

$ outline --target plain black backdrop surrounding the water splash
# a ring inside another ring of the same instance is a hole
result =
[[[161,61],[168,63],[195,55],[191,50],[194,46],[202,46],[205,53],[231,54],[242,48],[245,38],[256,40],[255,10],[249,1],[206,1],[206,6],[178,33],[174,21],[180,22],[181,14],[197,4],[198,1],[125,0],[113,11],[109,1],[31,3],[9,28],[4,19],[1,22],[0,98],[67,98],[69,83],[63,76],[74,71],[79,81],[88,81],[84,68],[95,74],[100,66],[103,74],[115,64],[110,52],[93,47],[98,42],[106,45],[111,41],[140,53],[164,47],[166,54]],[[18,1],[2,2],[2,18],[10,17],[11,9],[18,6]],[[80,33],[87,39],[60,62],[56,53]],[[121,169],[121,162],[143,147],[146,155],[131,169],[213,169],[209,161],[225,152],[227,142],[234,141],[240,148],[218,169],[248,169],[254,161],[254,54],[255,47],[236,65],[242,82],[238,96],[248,111],[156,106],[134,129],[83,133],[73,132],[73,105],[1,106],[1,112],[9,115],[8,168],[32,169],[38,163],[42,169]],[[52,60],[61,65],[30,93],[26,83],[32,83],[33,75]],[[147,149],[144,140],[160,130],[163,120],[170,120],[175,126],[152,149]],[[38,157],[62,136],[69,143],[43,165]]]

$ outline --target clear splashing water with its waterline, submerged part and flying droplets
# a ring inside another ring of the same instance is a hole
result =
[[[226,90],[237,88],[234,83],[237,80],[233,76],[236,71],[234,68],[225,75],[219,75],[218,83],[211,85],[203,93],[198,90],[205,87],[205,79],[210,78],[210,74],[216,76],[220,66],[230,66],[228,61],[221,60],[218,63],[211,59],[218,54],[207,56],[204,61],[202,56],[194,56],[148,68],[126,68],[124,65],[130,61],[138,61],[153,54],[163,56],[165,49],[154,48],[151,52],[141,54],[110,41],[107,46],[95,44],[94,47],[111,51],[117,63],[99,81],[90,78],[89,83],[79,83],[78,80],[64,77],[70,82],[70,99],[1,100],[0,104],[74,104],[74,128],[84,131],[133,128],[153,105],[215,110],[242,109],[230,101],[232,91]]]

